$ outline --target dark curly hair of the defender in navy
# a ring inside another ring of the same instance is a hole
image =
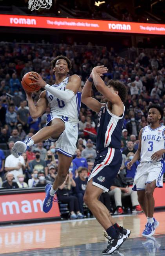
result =
[[[122,102],[125,102],[127,100],[127,88],[124,84],[122,84],[118,80],[109,80],[107,82],[107,86],[113,87],[115,91],[119,92],[119,97],[121,98]]]

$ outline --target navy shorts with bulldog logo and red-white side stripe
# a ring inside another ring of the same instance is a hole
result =
[[[88,181],[108,192],[120,170],[122,154],[120,149],[108,148],[98,153]]]

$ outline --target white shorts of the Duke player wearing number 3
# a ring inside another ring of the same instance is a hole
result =
[[[165,172],[165,161],[142,162],[138,165],[134,177],[132,190],[143,190],[147,183],[156,180],[156,187],[163,187],[163,173]]]

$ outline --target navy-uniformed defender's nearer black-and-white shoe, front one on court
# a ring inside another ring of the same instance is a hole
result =
[[[108,246],[105,250],[102,251],[102,254],[111,254],[114,252],[118,247],[122,245],[122,243],[127,239],[127,237],[121,233],[118,234],[118,237],[116,239],[110,238],[110,236],[107,236],[105,234],[105,237],[109,240]]]

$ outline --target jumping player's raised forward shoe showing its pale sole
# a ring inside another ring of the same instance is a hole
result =
[[[13,154],[13,156],[18,158],[22,153],[27,151],[27,149],[29,148],[29,146],[27,146],[27,143],[29,143],[30,141],[31,141],[31,137],[29,138],[25,137],[24,142],[21,142],[21,141],[15,142],[13,148],[11,149],[11,154]]]

